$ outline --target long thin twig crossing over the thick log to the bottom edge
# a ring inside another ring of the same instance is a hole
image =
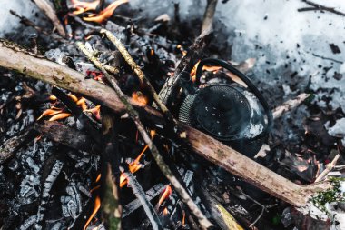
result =
[[[85,47],[82,43],[77,43],[78,47],[84,52],[84,54],[87,57],[92,57],[90,60],[94,62],[96,59]],[[94,65],[96,65],[94,63]],[[109,81],[109,83],[112,85],[116,95],[118,95],[119,99],[123,103],[123,105],[126,108],[126,112],[130,116],[130,118],[133,120],[134,124],[136,125],[139,133],[143,137],[143,141],[146,145],[149,146],[151,153],[153,155],[154,160],[156,161],[157,165],[163,172],[163,175],[165,175],[166,178],[172,183],[173,187],[175,188],[176,192],[181,196],[182,201],[188,205],[188,207],[191,209],[192,214],[195,215],[195,217],[198,218],[199,224],[202,226],[202,229],[207,229],[208,227],[212,226],[211,222],[206,218],[205,215],[202,214],[202,211],[199,209],[197,205],[192,201],[192,197],[188,194],[188,192],[183,188],[181,183],[178,181],[178,179],[173,175],[172,170],[169,168],[168,165],[163,160],[162,155],[159,153],[156,145],[153,144],[153,141],[151,140],[150,135],[146,132],[139,115],[137,111],[133,108],[133,105],[130,104],[130,102],[127,100],[126,95],[123,94],[120,87],[116,84],[115,80],[111,75],[109,75],[104,67],[102,65],[98,65],[99,69],[104,72],[105,77]]]

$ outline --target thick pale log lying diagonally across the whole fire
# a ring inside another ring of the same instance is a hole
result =
[[[24,49],[4,40],[0,41],[0,66],[92,98],[116,113],[124,111],[124,105],[110,87],[92,79],[85,79],[84,75],[62,65],[30,55]],[[157,110],[150,106],[138,105],[131,99],[129,101],[140,108],[139,111],[145,119],[164,124],[163,115]],[[186,132],[186,142],[196,154],[291,205],[305,206],[311,195],[331,188],[330,182],[313,185],[294,184],[211,136],[188,125],[180,125]]]

